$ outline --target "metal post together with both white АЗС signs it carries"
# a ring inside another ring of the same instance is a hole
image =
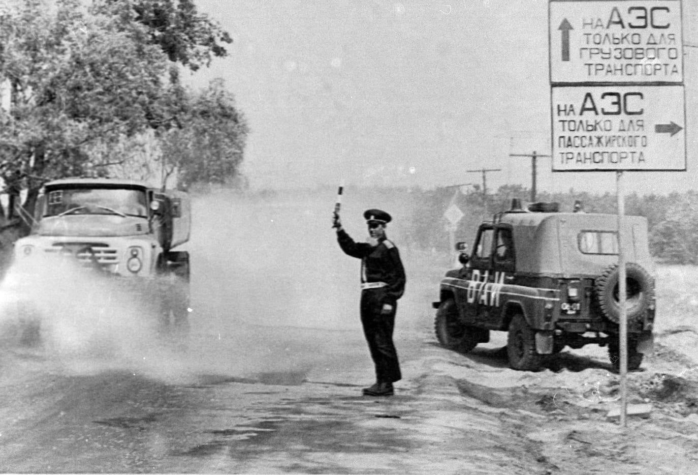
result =
[[[627,425],[625,186],[685,171],[681,0],[549,0],[552,169],[615,171],[621,425]]]

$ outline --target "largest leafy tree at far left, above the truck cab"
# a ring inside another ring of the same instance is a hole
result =
[[[162,52],[78,0],[57,0],[54,10],[25,0],[0,16],[0,45],[0,76],[13,92],[0,115],[0,177],[22,177],[29,212],[43,180],[100,165],[86,144],[168,121]]]

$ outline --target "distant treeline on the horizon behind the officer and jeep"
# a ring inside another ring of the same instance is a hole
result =
[[[488,190],[489,191],[489,190]],[[260,191],[258,198],[272,198],[277,192]],[[316,190],[332,196],[333,191]],[[307,196],[307,191],[302,194]],[[409,249],[447,251],[450,247],[449,221],[444,217],[455,204],[463,217],[456,226],[458,241],[473,243],[477,226],[493,214],[510,209],[512,198],[521,199],[523,207],[530,204],[530,190],[519,185],[506,185],[483,196],[479,187],[460,189],[442,187],[419,189],[407,187],[345,189],[349,197],[362,197],[371,206],[397,210],[399,222],[394,224],[391,237]],[[559,203],[561,212],[571,212],[574,202],[581,201],[586,212],[617,212],[615,193],[588,193],[570,189],[567,193],[537,193],[536,201]],[[327,199],[327,198],[323,198]],[[356,198],[353,198],[356,199]],[[329,209],[329,208],[328,208]],[[329,212],[328,212],[329,213]],[[646,217],[650,236],[650,251],[662,263],[698,263],[698,192],[685,191],[668,195],[632,193],[625,196],[625,214]],[[329,220],[329,217],[328,217]]]

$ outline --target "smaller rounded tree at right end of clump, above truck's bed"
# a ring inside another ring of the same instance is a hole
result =
[[[180,127],[163,131],[163,186],[178,172],[177,187],[194,183],[223,184],[239,177],[248,134],[247,122],[222,80],[188,96]]]

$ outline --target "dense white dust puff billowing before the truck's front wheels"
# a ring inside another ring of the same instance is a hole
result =
[[[158,335],[152,295],[77,265],[73,258],[17,260],[0,284],[0,339],[42,351],[70,372],[133,367]]]

